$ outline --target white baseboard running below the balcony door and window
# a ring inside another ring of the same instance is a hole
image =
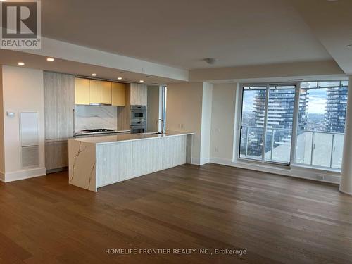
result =
[[[336,172],[327,172],[322,170],[316,170],[313,168],[298,168],[296,166],[291,166],[291,168],[274,168],[270,165],[257,165],[253,163],[250,164],[244,162],[234,163],[230,159],[216,157],[210,158],[210,162],[220,165],[232,166],[236,168],[243,168],[247,170],[256,170],[260,172],[268,172],[307,180],[316,180],[318,182],[329,182],[334,184],[340,183],[340,176]],[[318,179],[318,176],[322,177],[322,180]]]

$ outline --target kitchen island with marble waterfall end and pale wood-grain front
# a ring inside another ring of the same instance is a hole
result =
[[[117,134],[69,139],[69,179],[77,187],[99,187],[191,163],[192,134]]]

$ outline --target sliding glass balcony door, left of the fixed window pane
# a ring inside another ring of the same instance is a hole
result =
[[[295,84],[242,88],[240,158],[288,164]]]

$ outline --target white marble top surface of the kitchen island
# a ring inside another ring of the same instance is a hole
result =
[[[134,140],[154,139],[162,137],[177,137],[181,135],[194,134],[192,132],[166,131],[165,134],[139,133],[139,134],[114,134],[111,136],[100,137],[79,137],[70,139],[78,142],[87,142],[92,144],[108,144],[113,142],[128,142]]]

